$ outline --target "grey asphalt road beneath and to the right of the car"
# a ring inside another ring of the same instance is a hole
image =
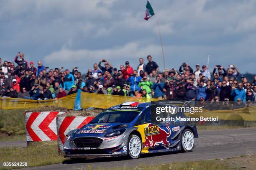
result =
[[[98,158],[83,162],[65,161],[60,164],[24,168],[24,170],[70,170],[98,167],[131,167],[138,164],[157,164],[182,162],[189,160],[210,160],[256,154],[256,128],[198,131],[193,152],[172,152],[165,154],[146,154],[140,159],[129,160],[126,157]]]

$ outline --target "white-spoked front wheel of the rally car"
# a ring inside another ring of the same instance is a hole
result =
[[[141,145],[141,139],[138,137],[136,134],[132,134],[128,138],[128,156],[131,159],[137,159],[138,157],[141,156],[141,150],[142,150],[142,145]]]

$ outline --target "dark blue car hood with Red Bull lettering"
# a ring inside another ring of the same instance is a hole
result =
[[[115,129],[128,127],[125,123],[95,123],[87,124],[80,129],[75,130],[71,135],[71,140],[77,137],[104,137],[105,134]]]

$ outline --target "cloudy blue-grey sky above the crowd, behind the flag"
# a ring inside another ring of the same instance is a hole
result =
[[[0,0],[0,57],[85,72],[106,59],[119,67],[151,54],[166,67],[235,64],[256,73],[255,0],[151,0],[156,15],[144,20],[146,0]],[[37,66],[37,64],[36,64]]]

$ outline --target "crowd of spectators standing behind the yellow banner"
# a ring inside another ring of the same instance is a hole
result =
[[[205,65],[196,64],[194,71],[188,63],[182,63],[178,71],[174,68],[160,71],[150,55],[147,60],[146,63],[139,58],[135,68],[129,61],[114,68],[102,59],[93,64],[93,69],[81,74],[77,67],[72,71],[63,67],[49,69],[41,61],[34,66],[33,61],[28,63],[24,54],[18,53],[14,62],[2,63],[0,58],[0,96],[47,100],[84,91],[131,96],[135,100],[182,99],[202,101],[202,104],[210,101],[206,103],[219,108],[228,103],[219,101],[234,101],[232,108],[244,107],[246,101],[255,103],[256,76],[253,82],[248,82],[244,76],[238,80],[240,73],[235,65],[229,65],[227,69],[216,65],[211,73]],[[227,107],[230,109],[231,105]]]

